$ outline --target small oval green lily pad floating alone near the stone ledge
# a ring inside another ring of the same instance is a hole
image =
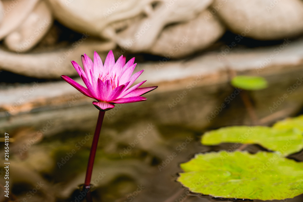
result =
[[[235,76],[231,84],[244,90],[261,90],[268,86],[265,78],[257,76]]]

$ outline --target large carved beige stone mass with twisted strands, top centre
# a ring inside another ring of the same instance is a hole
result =
[[[205,12],[201,14],[211,2],[121,0],[84,3],[50,0],[56,18],[64,25],[79,32],[87,31],[88,34],[114,41],[124,51],[166,55],[172,51],[175,44],[184,41],[183,38],[189,35],[191,42],[187,43],[187,48],[172,54],[171,58],[184,57],[208,47],[223,34],[224,26],[217,18],[205,21]],[[165,28],[172,23],[175,24],[173,28]],[[174,31],[177,31],[178,35],[171,39]]]

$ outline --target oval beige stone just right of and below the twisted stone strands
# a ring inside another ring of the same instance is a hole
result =
[[[209,10],[205,10],[188,22],[164,28],[147,52],[169,59],[184,57],[208,48],[225,32],[225,26],[217,16],[208,19],[208,13]]]

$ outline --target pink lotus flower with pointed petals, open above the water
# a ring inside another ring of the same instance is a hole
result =
[[[103,65],[100,56],[95,51],[94,62],[86,54],[82,55],[84,71],[75,61],[72,61],[72,65],[87,88],[68,76],[61,77],[81,93],[96,99],[97,101],[93,101],[96,108],[107,111],[114,108],[114,104],[145,101],[147,98],[141,95],[158,87],[138,88],[146,80],[130,87],[144,71],[141,70],[132,75],[136,66],[134,61],[135,58],[132,58],[125,64],[125,57],[121,56],[115,62],[113,52],[109,51]]]

